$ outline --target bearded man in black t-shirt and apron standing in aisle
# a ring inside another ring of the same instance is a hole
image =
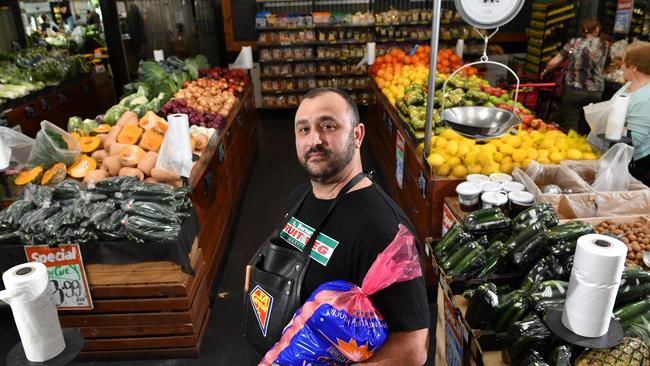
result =
[[[365,126],[347,93],[332,88],[308,92],[296,112],[294,132],[298,160],[311,182],[289,196],[283,224],[247,268],[245,335],[257,353],[251,359],[255,364],[320,285],[343,280],[361,286],[377,255],[395,238],[398,224],[415,233],[402,210],[362,173]],[[321,242],[322,235],[331,245],[324,255],[315,254],[314,245],[306,265],[296,262],[313,241],[301,248],[290,234],[293,227],[310,229],[310,238]],[[273,308],[267,306],[263,313],[251,306],[260,286],[264,297],[273,299]],[[370,298],[384,316],[389,336],[364,364],[424,364],[430,326],[424,278],[395,283]]]

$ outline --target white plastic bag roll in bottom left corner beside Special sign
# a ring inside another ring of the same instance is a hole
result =
[[[11,306],[27,359],[45,362],[63,352],[65,341],[45,265],[17,265],[2,275],[2,281],[6,290],[0,291],[0,299]]]

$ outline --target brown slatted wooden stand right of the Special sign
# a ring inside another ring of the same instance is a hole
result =
[[[196,357],[210,319],[203,251],[193,275],[171,262],[86,266],[92,311],[59,312],[85,338],[82,359]]]

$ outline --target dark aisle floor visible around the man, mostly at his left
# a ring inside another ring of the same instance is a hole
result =
[[[275,228],[285,199],[306,176],[296,159],[293,137],[294,111],[259,112],[260,153],[254,163],[241,205],[236,229],[226,249],[211,293],[212,315],[198,359],[77,362],[76,365],[245,365],[246,345],[242,336],[244,267],[254,251]],[[362,156],[364,170],[375,169],[367,144]],[[377,177],[381,184],[381,177]],[[245,184],[242,182],[241,184]],[[0,308],[0,356],[18,341],[8,308]],[[4,356],[0,357],[0,364]]]

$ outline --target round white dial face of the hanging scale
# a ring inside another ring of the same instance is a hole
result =
[[[524,6],[524,0],[454,0],[454,4],[467,23],[493,29],[511,21]]]

